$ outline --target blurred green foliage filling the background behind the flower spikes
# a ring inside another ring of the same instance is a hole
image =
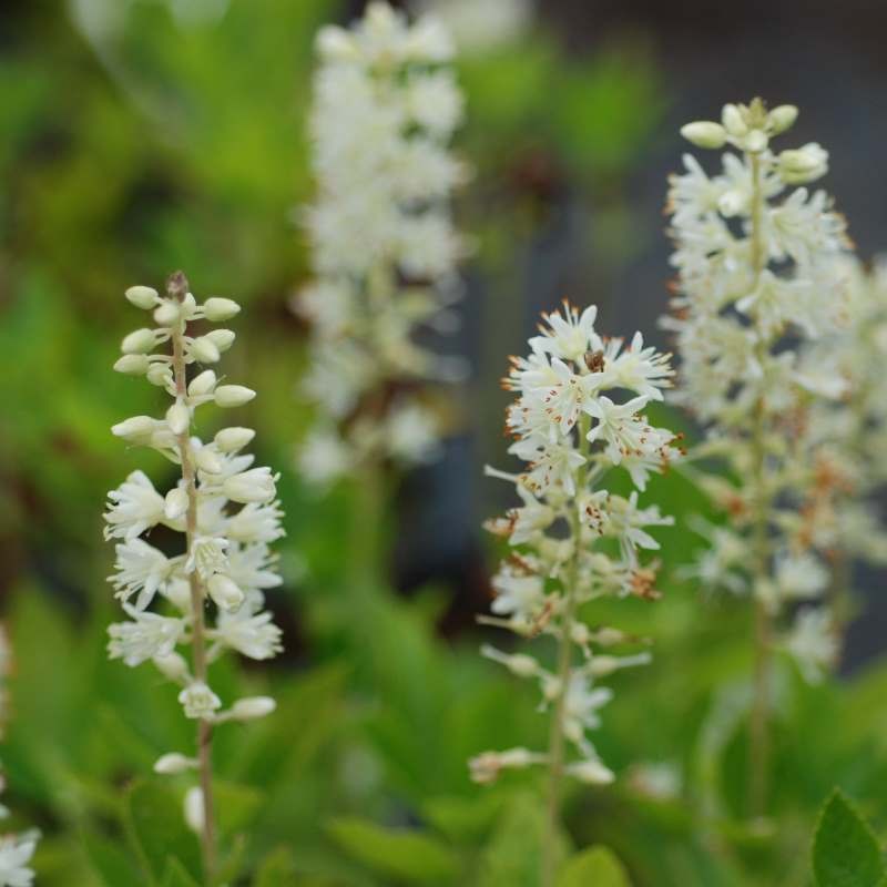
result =
[[[227,371],[261,392],[238,419],[258,428],[259,459],[284,471],[289,533],[286,592],[273,600],[289,652],[213,674],[223,693],[278,701],[274,717],[218,732],[225,883],[532,887],[538,776],[481,789],[466,767],[488,747],[542,743],[532,690],[482,661],[476,636],[437,634],[441,590],[405,601],[373,577],[356,582],[343,532],[354,490],[318,501],[290,470],[306,420],[292,397],[304,358],[286,295],[306,274],[292,207],[310,193],[312,37],[337,4],[233,0],[218,21],[190,26],[163,3],[128,8],[119,30],[96,31],[94,20],[74,27],[60,2],[22,4],[0,54],[0,584],[17,660],[2,758],[12,825],[44,833],[39,884],[200,883],[186,785],[150,775],[160,754],[190,747],[190,725],[151,670],[104,652],[104,491],[135,467],[170,479],[108,431],[157,407],[110,371],[132,326],[120,293],[181,266],[197,292],[247,308]],[[624,261],[625,247],[611,247],[629,239],[625,183],[666,96],[642,43],[567,59],[542,28],[466,59],[460,75],[461,150],[477,169],[461,212],[492,292],[476,387],[492,391],[499,327],[524,312],[509,288],[516,256],[567,188],[599,223],[590,257]],[[498,424],[498,401],[481,402],[481,420]],[[691,485],[675,472],[649,497],[676,517],[660,533],[665,598],[602,604],[594,619],[655,639],[655,660],[615,682],[600,734],[619,783],[570,789],[561,887],[807,885],[816,809],[834,785],[876,832],[887,826],[887,666],[809,687],[783,663],[775,818],[748,824],[746,606],[674,578],[696,546],[685,518],[705,509]],[[387,521],[383,550],[395,532]],[[670,766],[676,791],[652,791],[639,762]]]

